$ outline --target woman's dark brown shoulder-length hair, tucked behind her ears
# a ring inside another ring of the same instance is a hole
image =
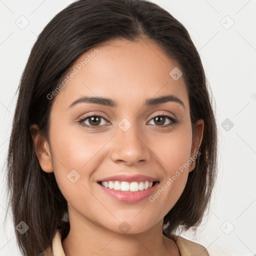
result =
[[[14,227],[23,255],[38,256],[51,246],[57,228],[69,232],[67,202],[54,173],[42,171],[29,126],[37,124],[47,135],[53,100],[47,95],[84,52],[111,39],[146,38],[179,63],[189,95],[191,125],[203,119],[200,156],[189,172],[185,188],[164,216],[163,234],[178,227],[187,230],[202,220],[216,176],[217,127],[199,54],[185,27],[166,10],[146,0],[78,0],[55,15],[34,43],[19,84],[7,155],[7,188]],[[5,216],[6,218],[6,216]]]

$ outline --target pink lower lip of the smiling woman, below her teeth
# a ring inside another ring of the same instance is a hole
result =
[[[138,202],[146,197],[148,197],[152,192],[155,190],[156,186],[159,184],[159,182],[156,182],[153,186],[151,186],[148,189],[143,189],[143,190],[138,190],[135,192],[132,191],[119,191],[119,190],[114,190],[110,189],[107,187],[104,187],[97,183],[101,189],[107,194],[113,197],[114,199],[117,199],[118,201],[122,202]]]

